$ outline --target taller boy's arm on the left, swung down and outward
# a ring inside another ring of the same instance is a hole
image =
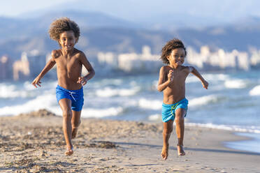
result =
[[[43,78],[43,76],[48,73],[48,71],[53,67],[55,66],[55,55],[56,53],[54,51],[52,51],[52,58],[50,59],[50,61],[48,61],[48,63],[46,63],[45,67],[43,68],[43,70],[41,70],[41,73],[34,79],[33,82],[31,82],[31,84],[34,85],[34,87],[37,88],[37,85],[38,87],[41,87],[41,78]]]

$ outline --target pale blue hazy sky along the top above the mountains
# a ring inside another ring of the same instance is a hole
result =
[[[260,17],[258,0],[6,0],[0,16],[17,17],[38,10],[85,10],[106,13],[134,22],[190,16],[200,20],[230,22],[241,17]]]

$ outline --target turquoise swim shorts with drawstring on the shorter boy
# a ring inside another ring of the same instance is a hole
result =
[[[178,110],[179,108],[185,109],[186,113],[188,110],[188,103],[189,101],[184,98],[182,100],[180,100],[178,103],[174,103],[171,105],[167,105],[167,104],[162,104],[162,108],[161,108],[161,118],[162,121],[167,122],[169,120],[173,120],[175,119],[175,110]],[[186,114],[185,114],[186,116]]]

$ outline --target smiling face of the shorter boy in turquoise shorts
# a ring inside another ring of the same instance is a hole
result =
[[[185,50],[176,48],[171,51],[171,54],[167,59],[172,66],[182,66],[185,61]]]

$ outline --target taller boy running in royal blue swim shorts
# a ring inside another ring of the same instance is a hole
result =
[[[82,86],[87,84],[95,72],[83,52],[74,48],[80,37],[78,24],[62,17],[50,25],[50,38],[56,40],[60,50],[52,50],[52,58],[45,68],[31,83],[34,87],[41,87],[41,79],[48,71],[57,64],[58,85],[56,98],[62,109],[63,131],[66,141],[65,155],[73,154],[72,138],[76,137],[80,126],[80,114],[83,106]],[[87,75],[81,77],[82,66],[87,68]]]

